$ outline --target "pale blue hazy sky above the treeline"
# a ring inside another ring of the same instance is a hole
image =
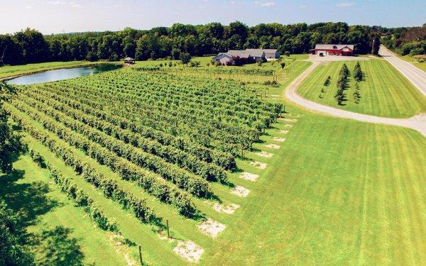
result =
[[[0,0],[0,34],[149,29],[173,23],[249,26],[343,21],[385,27],[426,23],[425,0]]]

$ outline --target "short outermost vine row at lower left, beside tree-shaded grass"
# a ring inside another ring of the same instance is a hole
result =
[[[84,190],[79,189],[75,182],[64,177],[56,167],[46,161],[43,155],[40,155],[40,153],[35,150],[30,149],[29,155],[40,167],[47,167],[48,170],[50,170],[50,178],[55,181],[62,192],[67,194],[68,198],[77,203],[77,206],[82,206],[84,208],[84,211],[86,211],[90,218],[97,223],[99,228],[105,231],[118,231],[116,221],[109,219],[101,210],[99,210],[99,207],[94,203],[92,197],[84,192]]]

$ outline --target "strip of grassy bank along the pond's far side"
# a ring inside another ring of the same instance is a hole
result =
[[[71,62],[44,62],[28,65],[12,65],[0,67],[0,79],[7,77],[19,76],[22,74],[31,74],[45,70],[55,70],[66,67],[82,67],[88,65],[99,65],[105,62],[87,62],[87,61],[71,61]]]

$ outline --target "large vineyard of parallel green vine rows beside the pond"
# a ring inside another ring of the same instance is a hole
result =
[[[158,207],[165,204],[210,237],[224,229],[211,218],[212,206],[224,213],[238,207],[224,191],[248,193],[229,176],[258,176],[242,173],[237,161],[258,150],[253,144],[283,113],[282,104],[240,82],[134,70],[20,87],[5,108],[34,162],[99,228],[121,233],[121,218],[102,206],[107,199],[160,235],[169,232],[169,216]],[[58,160],[73,173],[63,173]]]

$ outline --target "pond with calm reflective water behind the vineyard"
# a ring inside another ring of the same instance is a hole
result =
[[[30,85],[44,82],[57,82],[62,79],[73,79],[75,77],[84,77],[91,74],[97,74],[109,70],[116,70],[121,65],[94,65],[90,67],[75,67],[60,70],[48,70],[45,72],[28,74],[26,76],[9,79],[7,83],[15,85]]]

